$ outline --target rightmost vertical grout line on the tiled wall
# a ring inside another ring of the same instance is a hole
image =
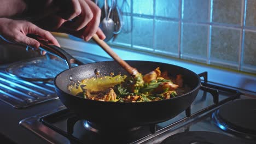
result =
[[[242,29],[240,34],[240,47],[238,52],[238,70],[241,71],[241,65],[243,61],[243,50],[245,49],[245,25],[246,25],[246,10],[247,10],[247,0],[242,1],[242,15],[241,15],[241,23]]]

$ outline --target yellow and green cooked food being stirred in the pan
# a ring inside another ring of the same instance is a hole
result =
[[[164,100],[189,91],[183,86],[182,75],[169,77],[156,68],[148,74],[92,77],[68,86],[73,95],[86,99],[113,102]]]

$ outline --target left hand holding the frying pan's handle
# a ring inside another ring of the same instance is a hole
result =
[[[38,49],[40,43],[35,39],[27,37],[27,34],[39,35],[43,39],[48,40],[49,43],[60,47],[60,44],[50,32],[37,27],[31,22],[0,18],[0,35],[4,40]]]

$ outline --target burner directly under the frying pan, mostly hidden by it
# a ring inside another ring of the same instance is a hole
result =
[[[120,134],[129,134],[138,130],[141,127],[132,127],[132,128],[121,128],[121,127],[111,127],[106,125],[100,125],[97,123],[92,123],[84,120],[84,127],[86,130],[93,131],[98,134],[108,134],[109,132],[120,133]]]

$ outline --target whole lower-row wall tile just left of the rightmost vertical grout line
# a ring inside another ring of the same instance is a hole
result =
[[[238,67],[240,33],[240,29],[212,27],[210,57],[212,64]]]

